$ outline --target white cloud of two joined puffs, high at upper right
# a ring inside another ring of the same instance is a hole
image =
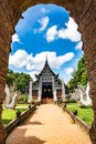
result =
[[[70,20],[67,23],[65,23],[66,29],[62,28],[57,30],[57,25],[53,25],[47,29],[46,32],[46,41],[51,42],[55,39],[68,39],[73,42],[81,41],[81,33],[77,31],[77,24],[75,21],[70,17]]]

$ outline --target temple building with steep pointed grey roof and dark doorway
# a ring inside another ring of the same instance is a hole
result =
[[[62,97],[62,81],[58,74],[55,74],[47,62],[39,74],[35,74],[36,81],[32,84],[32,99],[41,103],[56,102]],[[64,83],[63,83],[64,84]]]

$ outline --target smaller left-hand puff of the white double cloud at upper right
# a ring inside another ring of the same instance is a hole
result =
[[[54,41],[54,39],[57,38],[57,25],[53,25],[51,28],[47,29],[47,32],[46,32],[46,41],[47,42],[51,42],[51,41]]]

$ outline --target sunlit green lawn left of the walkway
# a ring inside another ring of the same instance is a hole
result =
[[[19,106],[24,106],[19,105]],[[26,106],[26,105],[25,105]],[[10,109],[4,109],[2,111],[2,123],[6,126],[8,123],[10,123],[12,120],[14,120],[17,117],[17,112],[20,111],[21,113],[24,112],[26,110],[26,107],[24,109],[15,109],[15,110],[10,110]]]

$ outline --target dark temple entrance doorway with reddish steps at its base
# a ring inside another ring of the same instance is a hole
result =
[[[53,102],[53,91],[52,83],[43,83],[42,84],[42,103],[51,103]]]

